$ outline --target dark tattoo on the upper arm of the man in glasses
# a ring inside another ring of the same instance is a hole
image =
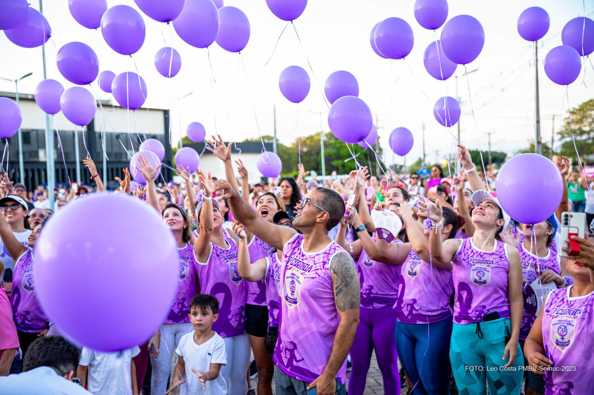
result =
[[[334,298],[340,311],[359,308],[361,285],[355,270],[355,263],[347,253],[336,254],[330,262],[330,273],[334,280]]]

